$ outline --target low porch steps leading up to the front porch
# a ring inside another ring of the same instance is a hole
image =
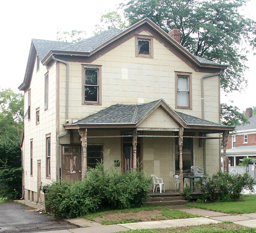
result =
[[[150,196],[148,201],[143,206],[172,206],[172,205],[184,205],[188,203],[184,196],[181,195],[154,195]]]

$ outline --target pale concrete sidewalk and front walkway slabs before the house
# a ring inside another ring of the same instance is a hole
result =
[[[31,206],[35,209],[41,208],[41,205],[34,203],[18,200],[18,203]],[[190,208],[187,206],[172,206],[172,209],[178,209],[190,214],[199,215],[202,217],[197,218],[186,218],[186,219],[173,219],[163,221],[150,221],[150,222],[137,222],[137,223],[126,223],[117,225],[102,225],[93,221],[89,221],[84,218],[66,218],[63,219],[68,223],[71,223],[77,227],[76,229],[67,229],[59,231],[45,231],[41,233],[114,233],[120,231],[127,231],[129,229],[145,229],[145,228],[165,228],[165,227],[184,227],[184,226],[195,226],[209,223],[219,223],[223,221],[231,221],[235,224],[239,224],[245,227],[256,228],[256,213],[242,214],[242,215],[230,215],[221,212],[215,212],[210,210],[203,210],[198,208]]]

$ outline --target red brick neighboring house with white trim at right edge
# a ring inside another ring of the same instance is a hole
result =
[[[249,123],[239,125],[234,133],[228,136],[226,156],[230,166],[238,166],[245,157],[256,157],[256,115],[252,116],[252,108],[246,109]]]

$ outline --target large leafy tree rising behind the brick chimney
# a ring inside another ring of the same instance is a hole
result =
[[[221,76],[225,92],[240,90],[246,79],[244,45],[256,35],[256,23],[239,14],[248,0],[131,0],[122,4],[130,25],[148,17],[166,32],[181,31],[181,44],[191,53],[229,64]]]

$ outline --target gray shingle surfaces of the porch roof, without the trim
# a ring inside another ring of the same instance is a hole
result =
[[[85,117],[74,124],[135,124],[144,117],[152,108],[154,108],[162,99],[152,101],[141,105],[123,105],[116,104],[105,108],[98,113]],[[137,107],[137,109],[136,109]],[[171,107],[170,107],[171,108]],[[176,112],[177,115],[186,122],[187,125],[197,126],[222,126],[220,124],[203,120],[199,117],[193,117],[188,114]],[[135,119],[133,119],[133,115]]]

